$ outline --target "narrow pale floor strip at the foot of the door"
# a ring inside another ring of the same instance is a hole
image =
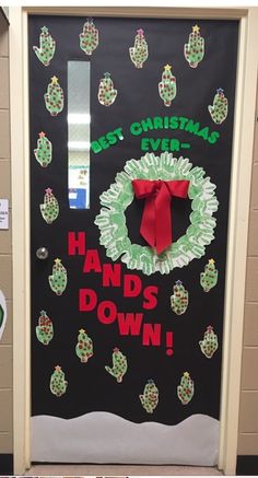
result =
[[[25,476],[206,476],[223,475],[216,468],[200,466],[144,465],[34,465]]]

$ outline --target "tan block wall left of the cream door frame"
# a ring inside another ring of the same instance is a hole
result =
[[[0,11],[0,198],[11,199],[9,34]],[[10,211],[11,212],[11,211]],[[0,230],[0,290],[8,305],[8,322],[0,341],[0,454],[12,443],[12,231]]]

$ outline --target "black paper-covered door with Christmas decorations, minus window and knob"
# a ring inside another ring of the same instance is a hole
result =
[[[216,464],[237,36],[30,18],[34,462]],[[89,209],[69,207],[71,60],[90,62]]]

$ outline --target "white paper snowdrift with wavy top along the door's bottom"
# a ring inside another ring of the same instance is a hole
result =
[[[206,415],[176,425],[133,423],[103,411],[32,418],[33,462],[214,466],[218,447],[219,421]]]

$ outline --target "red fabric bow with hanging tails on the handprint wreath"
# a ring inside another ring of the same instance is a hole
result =
[[[189,180],[133,179],[132,187],[138,199],[145,199],[140,233],[161,254],[173,242],[172,197],[186,198]]]

